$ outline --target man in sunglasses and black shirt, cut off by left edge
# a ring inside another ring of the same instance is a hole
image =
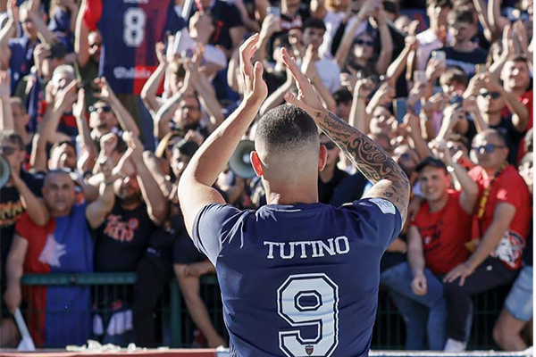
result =
[[[0,155],[9,163],[11,170],[11,178],[0,189],[0,329],[3,332],[0,343],[4,347],[13,343],[13,338],[17,338],[9,333],[15,331],[15,327],[2,298],[6,287],[5,262],[13,242],[15,223],[25,211],[37,225],[46,224],[48,216],[38,199],[41,196],[42,180],[21,169],[26,150],[22,138],[13,130],[0,130]]]

